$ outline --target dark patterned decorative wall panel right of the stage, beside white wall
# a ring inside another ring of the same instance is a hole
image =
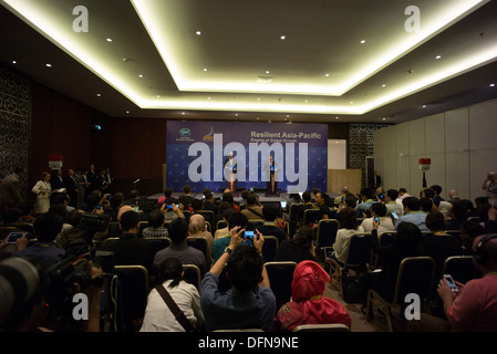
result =
[[[350,169],[362,169],[362,187],[366,187],[366,176],[374,170],[373,164],[366,163],[367,156],[374,156],[374,131],[390,126],[389,124],[350,124],[348,144],[348,166]]]

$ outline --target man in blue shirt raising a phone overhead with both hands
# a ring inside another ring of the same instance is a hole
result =
[[[276,314],[276,298],[263,264],[263,237],[256,231],[253,246],[241,244],[245,228],[230,230],[230,242],[200,287],[200,306],[207,331],[261,329],[268,331]],[[226,264],[231,289],[220,291],[219,275]]]

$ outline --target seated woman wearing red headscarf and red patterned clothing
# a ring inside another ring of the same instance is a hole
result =
[[[334,324],[351,326],[345,306],[323,296],[330,275],[313,261],[297,264],[291,283],[291,301],[283,304],[275,316],[273,331],[293,331],[301,324]]]

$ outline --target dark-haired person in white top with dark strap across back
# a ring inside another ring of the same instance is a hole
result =
[[[159,264],[157,283],[167,290],[191,325],[201,329],[204,314],[200,309],[200,294],[195,285],[183,279],[183,264],[178,259],[164,259]],[[145,317],[139,332],[185,332],[156,289],[152,289],[148,293]]]

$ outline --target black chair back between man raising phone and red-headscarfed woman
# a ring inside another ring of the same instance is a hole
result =
[[[291,283],[293,281],[293,271],[296,270],[297,262],[273,261],[266,262],[265,266],[272,293],[276,296],[276,308],[280,309],[291,299]]]

